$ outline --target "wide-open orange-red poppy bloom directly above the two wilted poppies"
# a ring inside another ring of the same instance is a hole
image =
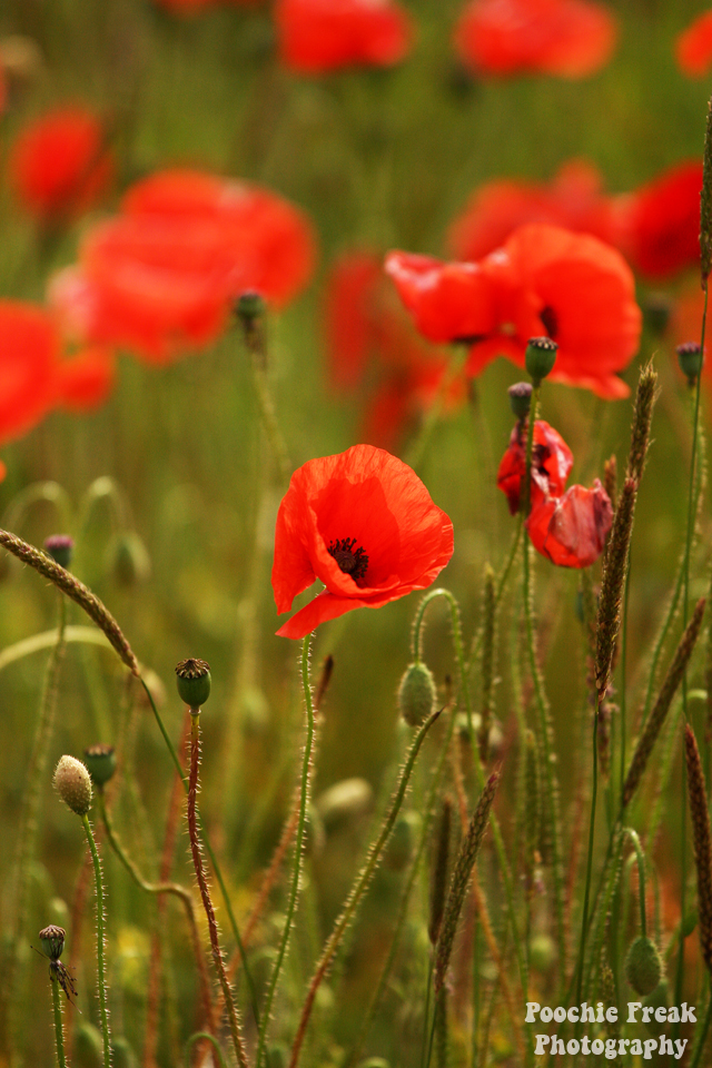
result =
[[[386,271],[425,337],[472,344],[468,375],[496,356],[523,367],[528,338],[546,334],[558,344],[552,380],[627,396],[617,372],[637,349],[641,312],[630,268],[597,238],[531,224],[475,264],[396,251]]]

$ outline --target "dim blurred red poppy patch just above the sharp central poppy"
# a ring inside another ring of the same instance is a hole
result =
[[[394,451],[439,396],[448,360],[415,335],[375,253],[349,253],[334,265],[326,286],[325,333],[334,386],[352,396],[362,393],[362,439]],[[459,376],[445,387],[444,412],[464,399]]]

